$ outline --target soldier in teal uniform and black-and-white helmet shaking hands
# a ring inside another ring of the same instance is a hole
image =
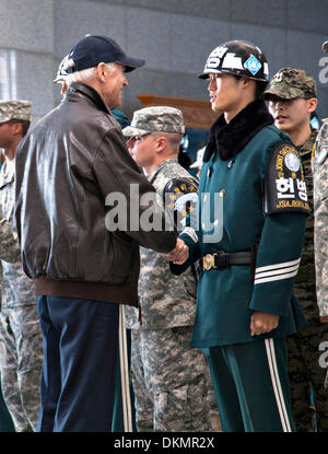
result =
[[[294,431],[284,337],[306,319],[293,295],[308,202],[298,152],[261,100],[268,62],[234,40],[209,56],[212,125],[198,218],[180,234],[199,260],[191,347],[209,358],[223,431]]]

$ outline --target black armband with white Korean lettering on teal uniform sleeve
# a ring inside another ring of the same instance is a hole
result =
[[[278,143],[272,150],[265,181],[263,211],[265,214],[309,212],[302,161],[290,142]]]

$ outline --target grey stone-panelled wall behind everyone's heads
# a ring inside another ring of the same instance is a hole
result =
[[[121,108],[131,116],[140,93],[207,98],[197,74],[210,51],[247,39],[265,51],[271,75],[283,66],[312,74],[318,113],[328,116],[328,81],[319,81],[327,23],[327,0],[0,0],[0,96],[32,100],[35,118],[45,115],[60,101],[51,81],[61,58],[85,34],[105,34],[147,60],[129,74]]]

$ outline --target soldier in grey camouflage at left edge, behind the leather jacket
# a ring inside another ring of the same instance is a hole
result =
[[[0,173],[0,207],[3,219],[10,223],[14,210],[15,151],[30,127],[31,112],[27,101],[0,102],[0,147],[5,158]],[[10,261],[1,257],[1,387],[15,431],[31,432],[36,430],[39,410],[42,333],[33,282],[19,258]]]

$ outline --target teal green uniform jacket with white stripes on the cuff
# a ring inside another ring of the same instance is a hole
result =
[[[288,209],[263,213],[270,156],[274,145],[283,142],[288,142],[286,136],[273,125],[266,126],[232,160],[222,160],[215,152],[203,163],[199,229],[194,229],[191,222],[180,235],[189,246],[189,259],[183,266],[172,264],[173,272],[179,273],[190,263],[219,251],[250,251],[257,244],[258,253],[253,277],[249,265],[200,272],[191,347],[281,337],[306,324],[293,295],[306,213]],[[267,335],[251,337],[254,311],[280,315],[279,326]]]

